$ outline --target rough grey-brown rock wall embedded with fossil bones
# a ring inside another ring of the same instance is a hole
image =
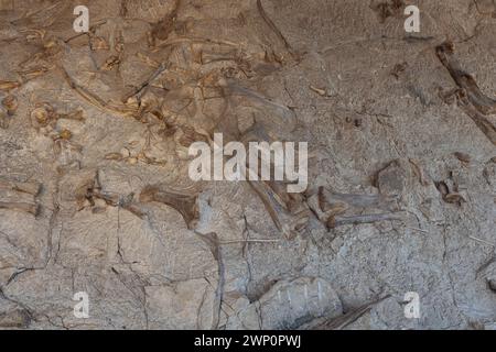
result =
[[[0,329],[496,328],[495,34],[494,0],[0,0]],[[306,191],[191,180],[214,132],[309,142]]]

